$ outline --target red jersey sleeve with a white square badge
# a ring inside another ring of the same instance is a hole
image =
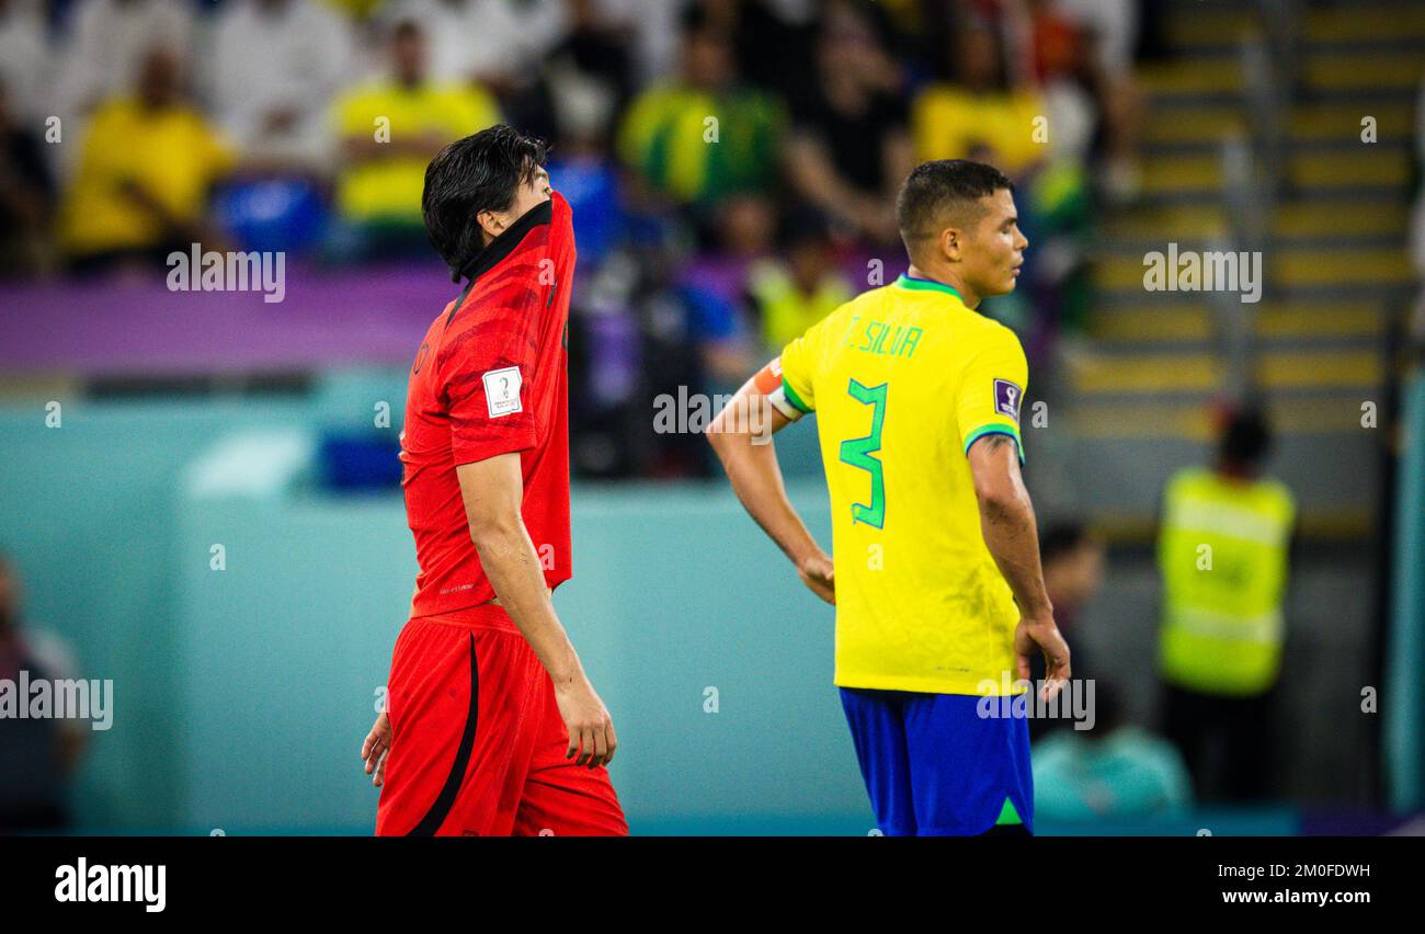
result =
[[[482,288],[446,335],[439,379],[457,465],[539,443],[533,391],[542,302],[522,278],[504,275]]]

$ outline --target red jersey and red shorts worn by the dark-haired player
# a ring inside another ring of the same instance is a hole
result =
[[[550,587],[570,576],[564,325],[574,275],[554,194],[465,270],[410,368],[400,439],[420,573],[388,679],[392,744],[376,809],[389,834],[627,834],[603,766],[564,757],[549,673],[480,568],[456,466],[519,452],[524,528]]]

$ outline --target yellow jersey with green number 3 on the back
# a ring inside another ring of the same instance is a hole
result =
[[[902,275],[787,345],[782,391],[817,412],[831,495],[842,687],[1013,687],[1019,612],[980,533],[966,452],[1019,445],[1029,382],[1013,331],[949,285]]]

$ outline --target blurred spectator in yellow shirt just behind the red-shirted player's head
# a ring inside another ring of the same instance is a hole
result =
[[[453,140],[500,123],[494,97],[477,84],[435,83],[426,40],[413,20],[390,33],[392,74],[358,86],[333,104],[342,143],[336,207],[349,251],[429,251],[420,215],[426,164]]]

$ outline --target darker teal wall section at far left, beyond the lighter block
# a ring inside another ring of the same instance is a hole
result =
[[[174,615],[175,485],[238,426],[296,424],[305,406],[91,405],[0,412],[0,548],[19,566],[28,619],[64,636],[81,674],[114,680],[115,720],[95,732],[76,789],[103,828],[168,826],[182,720]]]

